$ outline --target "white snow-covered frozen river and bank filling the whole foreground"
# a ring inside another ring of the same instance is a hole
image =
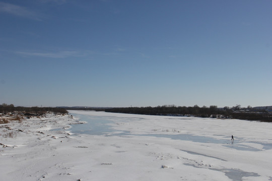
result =
[[[70,114],[107,120],[110,131],[72,134],[79,119],[68,115],[1,124],[0,180],[272,180],[270,123]]]

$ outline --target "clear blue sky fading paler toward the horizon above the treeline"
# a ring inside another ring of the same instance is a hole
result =
[[[0,104],[272,105],[270,0],[0,0]]]

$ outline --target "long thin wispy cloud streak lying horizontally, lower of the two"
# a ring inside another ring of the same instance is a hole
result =
[[[80,51],[59,51],[59,52],[29,52],[29,51],[17,51],[17,54],[23,56],[39,56],[48,58],[66,58],[66,57],[79,57],[85,56],[88,52]]]

